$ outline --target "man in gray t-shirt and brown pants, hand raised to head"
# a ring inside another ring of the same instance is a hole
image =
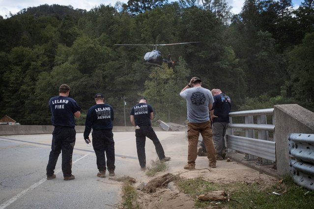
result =
[[[197,77],[191,78],[189,84],[181,90],[180,96],[186,99],[188,110],[188,164],[184,169],[195,169],[200,134],[207,150],[209,167],[215,168],[216,152],[209,120],[209,110],[214,103],[213,96],[208,89],[201,87],[201,80]]]

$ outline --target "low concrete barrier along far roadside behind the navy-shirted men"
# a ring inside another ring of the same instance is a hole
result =
[[[164,131],[160,127],[153,127],[155,131]],[[0,125],[0,135],[20,135],[20,134],[47,134],[52,133],[53,126],[30,126],[30,125]],[[83,133],[85,126],[76,126],[76,132]],[[114,132],[135,131],[131,126],[114,126]]]

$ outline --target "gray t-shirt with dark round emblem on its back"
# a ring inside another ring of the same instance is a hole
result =
[[[182,91],[180,96],[186,99],[189,122],[203,123],[209,121],[208,104],[213,104],[214,99],[208,89],[203,87],[188,88]]]

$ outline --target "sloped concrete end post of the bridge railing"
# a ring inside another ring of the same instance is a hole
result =
[[[289,133],[314,133],[314,112],[298,104],[274,106],[277,172],[289,174]]]

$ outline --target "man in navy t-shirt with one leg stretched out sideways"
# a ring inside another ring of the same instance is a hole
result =
[[[170,157],[165,156],[163,146],[161,145],[155,131],[151,127],[150,120],[154,118],[153,108],[144,97],[140,98],[139,104],[136,104],[130,113],[130,120],[135,128],[136,148],[139,157],[141,170],[146,169],[145,141],[146,137],[153,141],[156,153],[160,162],[170,160]]]

